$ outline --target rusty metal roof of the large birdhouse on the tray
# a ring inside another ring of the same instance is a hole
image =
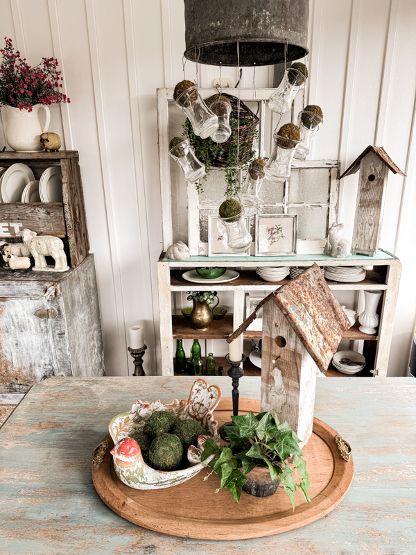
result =
[[[228,343],[244,332],[256,318],[259,309],[270,300],[286,316],[318,368],[325,372],[342,339],[343,331],[349,328],[350,323],[343,307],[324,280],[318,264],[259,302],[254,313],[227,338]]]

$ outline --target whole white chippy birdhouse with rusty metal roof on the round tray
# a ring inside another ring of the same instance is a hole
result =
[[[264,298],[229,336],[229,343],[261,307],[261,411],[276,411],[306,445],[312,434],[317,373],[328,369],[350,323],[317,264]]]

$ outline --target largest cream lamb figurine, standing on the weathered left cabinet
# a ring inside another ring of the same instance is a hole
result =
[[[34,271],[64,272],[69,270],[67,255],[64,253],[64,244],[59,237],[53,235],[41,235],[37,237],[35,231],[21,230],[21,237],[25,246],[31,251],[35,259]],[[45,256],[51,256],[55,260],[55,267],[46,264]]]

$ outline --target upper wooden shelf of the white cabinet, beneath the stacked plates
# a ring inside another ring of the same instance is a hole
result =
[[[208,283],[208,284],[193,284],[182,278],[183,270],[171,270],[171,291],[189,291],[192,288],[198,287],[200,291],[226,291],[228,289],[260,289],[261,291],[274,291],[277,287],[281,287],[291,281],[290,278],[285,278],[279,282],[266,282],[262,280],[259,275],[252,270],[240,271],[240,276],[232,282],[226,283]],[[356,283],[341,283],[327,280],[329,289],[333,290],[351,290],[351,289],[387,289],[385,279],[382,275],[374,270],[367,270],[365,280]]]

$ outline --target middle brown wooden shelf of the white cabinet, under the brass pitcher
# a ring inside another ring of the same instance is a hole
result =
[[[343,339],[347,340],[373,340],[378,336],[363,334],[358,330],[358,322],[343,333]],[[233,316],[226,314],[221,320],[214,320],[206,332],[194,330],[192,324],[184,316],[172,316],[173,339],[227,339],[233,332]],[[261,332],[244,332],[244,339],[261,339]]]

